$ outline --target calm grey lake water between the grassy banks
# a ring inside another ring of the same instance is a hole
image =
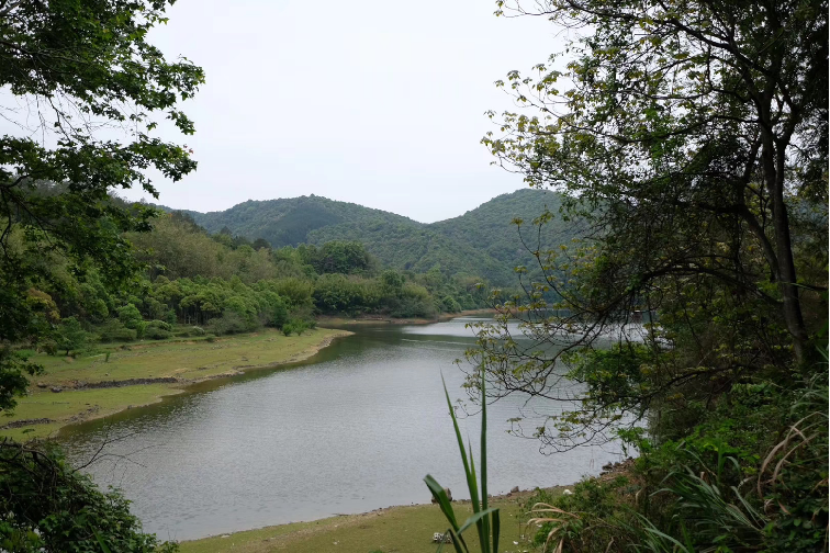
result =
[[[412,327],[360,327],[314,359],[133,409],[72,430],[66,447],[96,481],[123,488],[145,530],[162,539],[222,532],[390,505],[426,503],[430,473],[464,498],[447,413],[467,399],[453,361],[473,343],[470,319]],[[599,448],[542,455],[509,436],[521,409],[539,418],[556,406],[508,397],[490,407],[490,489],[568,484],[618,455]],[[479,420],[460,420],[478,448]]]

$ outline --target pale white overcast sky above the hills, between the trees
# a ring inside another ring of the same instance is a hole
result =
[[[562,37],[543,18],[494,10],[178,0],[152,42],[201,65],[206,83],[184,104],[199,169],[158,181],[160,203],[205,212],[317,194],[434,222],[523,188],[490,166],[484,112],[512,106],[493,81],[546,61]]]

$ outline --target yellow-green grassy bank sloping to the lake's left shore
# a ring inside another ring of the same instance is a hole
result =
[[[0,437],[48,437],[67,424],[104,417],[178,394],[193,382],[309,358],[333,338],[346,334],[317,328],[302,336],[285,337],[266,329],[212,341],[147,341],[101,347],[94,354],[75,359],[37,354],[32,359],[44,365],[46,374],[34,377],[30,395],[19,400],[10,417],[0,418]],[[153,382],[170,377],[176,382]],[[82,388],[85,384],[123,384],[136,379],[149,382]],[[52,391],[58,387],[59,393]]]

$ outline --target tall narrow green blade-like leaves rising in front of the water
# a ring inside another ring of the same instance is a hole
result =
[[[498,517],[498,509],[487,507],[487,406],[485,391],[485,380],[482,373],[481,377],[481,495],[479,495],[479,484],[475,475],[475,462],[472,454],[472,445],[470,445],[470,458],[468,462],[467,452],[464,451],[464,441],[461,438],[461,431],[458,428],[458,419],[456,419],[456,411],[452,408],[452,402],[450,402],[449,393],[447,392],[447,383],[444,382],[444,395],[447,398],[447,407],[449,407],[450,417],[452,417],[452,426],[456,430],[456,438],[458,439],[458,449],[461,453],[461,462],[464,465],[464,475],[467,476],[467,487],[470,490],[470,501],[472,504],[473,514],[462,524],[459,526],[456,514],[452,510],[452,505],[447,497],[447,493],[444,490],[440,484],[429,474],[426,475],[424,482],[426,483],[433,497],[438,501],[441,512],[450,523],[450,528],[447,530],[452,545],[457,553],[467,553],[470,551],[467,542],[463,539],[466,530],[475,524],[475,529],[479,534],[479,544],[482,553],[498,553],[498,534],[501,531],[501,520]],[[492,542],[491,542],[492,530]],[[438,546],[438,551],[441,551],[444,544]]]

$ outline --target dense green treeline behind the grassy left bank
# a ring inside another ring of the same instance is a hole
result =
[[[187,214],[160,214],[149,233],[130,233],[144,275],[112,292],[99,274],[75,274],[55,257],[48,286],[30,291],[53,352],[100,340],[227,335],[274,327],[285,334],[316,315],[435,317],[484,306],[474,278],[382,269],[360,242],[271,249],[222,230],[206,233]]]

